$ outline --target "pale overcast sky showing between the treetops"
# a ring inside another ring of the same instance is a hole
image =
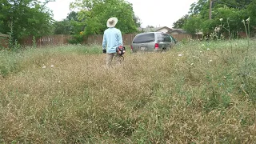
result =
[[[133,4],[134,13],[141,19],[142,27],[168,26],[190,10],[190,5],[198,0],[126,0]],[[70,13],[70,2],[74,0],[56,0],[47,6],[53,10],[54,19],[61,21]]]

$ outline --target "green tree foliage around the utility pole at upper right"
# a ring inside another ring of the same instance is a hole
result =
[[[190,33],[202,31],[205,34],[210,34],[216,26],[222,24],[222,28],[225,27],[232,34],[237,34],[244,30],[242,19],[249,17],[251,27],[255,28],[256,26],[256,0],[215,0],[211,20],[209,19],[209,7],[209,0],[198,0],[191,4],[189,16],[182,28]],[[222,22],[219,21],[221,18]],[[179,21],[174,24],[178,25]],[[225,32],[226,29],[223,28],[222,32]]]

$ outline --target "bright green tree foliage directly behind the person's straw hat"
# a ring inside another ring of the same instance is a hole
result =
[[[72,9],[78,9],[78,19],[86,19],[85,34],[103,34],[108,18],[118,18],[117,28],[123,34],[134,33],[140,26],[132,4],[124,0],[76,0],[71,3]]]

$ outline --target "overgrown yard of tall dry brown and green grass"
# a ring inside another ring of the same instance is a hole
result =
[[[0,143],[256,142],[249,46],[183,42],[112,69],[101,46],[2,51]]]

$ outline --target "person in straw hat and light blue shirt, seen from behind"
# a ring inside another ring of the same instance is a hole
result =
[[[106,22],[108,29],[104,31],[102,40],[102,51],[106,54],[106,66],[111,67],[113,59],[121,63],[121,57],[117,54],[117,48],[122,46],[122,33],[114,26],[118,18],[109,18]]]

